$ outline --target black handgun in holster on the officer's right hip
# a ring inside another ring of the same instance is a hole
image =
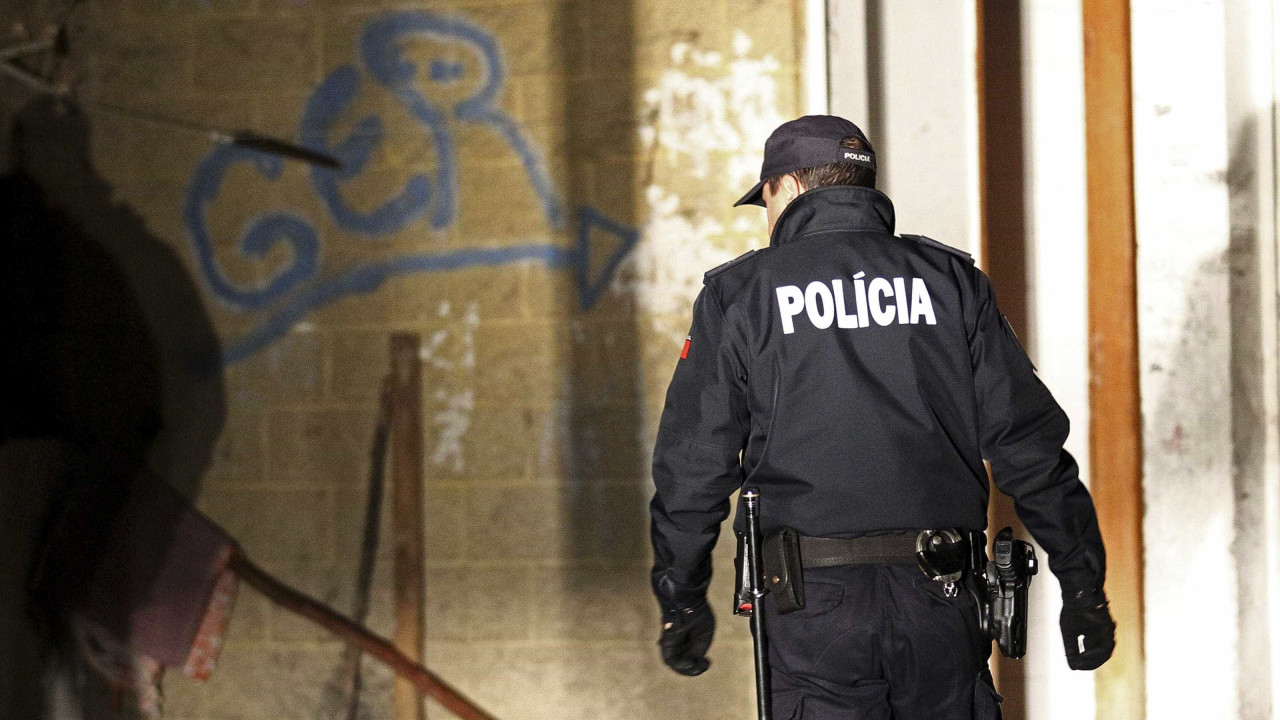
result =
[[[986,564],[983,629],[996,641],[1001,655],[1016,660],[1027,655],[1027,597],[1039,564],[1036,548],[1014,539],[1012,528],[996,534],[991,555]]]

